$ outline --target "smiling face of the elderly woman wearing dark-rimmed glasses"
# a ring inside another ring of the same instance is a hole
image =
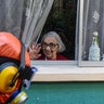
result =
[[[56,60],[58,50],[57,41],[54,37],[46,37],[42,42],[42,50],[47,58]]]

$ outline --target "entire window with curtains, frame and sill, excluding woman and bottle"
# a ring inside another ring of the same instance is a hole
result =
[[[100,67],[104,66],[104,0],[2,0],[0,3],[0,30],[22,38],[26,48],[34,40],[40,42],[50,30],[62,30],[68,40],[62,55],[69,61],[31,61],[39,69],[34,81],[104,80],[104,68]],[[93,34],[99,36],[96,40]],[[99,61],[89,60],[92,40],[99,43]]]

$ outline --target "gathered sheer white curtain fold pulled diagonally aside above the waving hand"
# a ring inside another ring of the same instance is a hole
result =
[[[54,0],[29,0],[26,10],[26,24],[23,42],[26,48],[38,40]]]

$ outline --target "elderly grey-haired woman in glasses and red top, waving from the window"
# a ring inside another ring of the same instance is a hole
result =
[[[68,60],[61,55],[65,50],[65,44],[58,34],[49,31],[42,37],[41,43],[38,43],[36,47],[35,43],[32,43],[31,48],[29,47],[29,55],[31,60],[63,61]]]

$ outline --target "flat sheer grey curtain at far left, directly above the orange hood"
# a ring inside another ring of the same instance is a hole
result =
[[[0,0],[0,31],[20,38],[24,0]]]

